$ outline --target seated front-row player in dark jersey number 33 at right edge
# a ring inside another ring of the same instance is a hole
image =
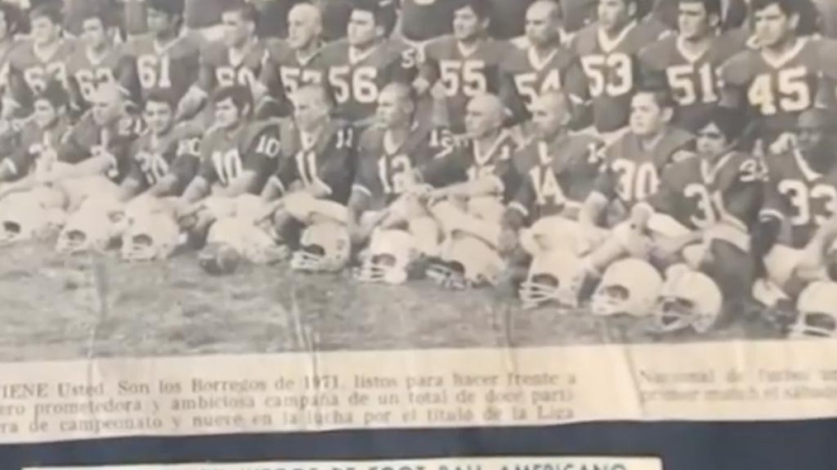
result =
[[[778,293],[757,299],[768,306],[793,299],[812,281],[827,278],[824,240],[818,235],[837,213],[837,165],[834,117],[824,110],[806,110],[798,119],[796,143],[788,154],[765,156],[768,178],[753,252],[763,259],[765,281]],[[757,294],[754,292],[754,294]]]

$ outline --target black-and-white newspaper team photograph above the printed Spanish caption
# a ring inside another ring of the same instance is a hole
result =
[[[3,0],[0,361],[837,336],[834,0]]]

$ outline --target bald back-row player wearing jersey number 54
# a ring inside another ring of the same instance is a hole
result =
[[[537,0],[526,11],[526,49],[513,50],[503,69],[511,74],[527,106],[537,96],[565,90],[572,99],[583,103],[588,98],[587,77],[578,58],[562,46],[561,10],[554,0]]]

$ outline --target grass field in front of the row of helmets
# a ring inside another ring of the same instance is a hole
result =
[[[523,310],[493,290],[385,287],[284,266],[213,278],[185,254],[129,265],[66,258],[49,243],[0,249],[0,361],[763,339],[733,323],[711,338],[655,338],[629,319]],[[98,275],[97,275],[98,274]]]

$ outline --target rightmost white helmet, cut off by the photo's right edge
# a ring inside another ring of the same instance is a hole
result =
[[[837,283],[809,284],[796,302],[798,316],[790,327],[790,338],[837,337]]]

